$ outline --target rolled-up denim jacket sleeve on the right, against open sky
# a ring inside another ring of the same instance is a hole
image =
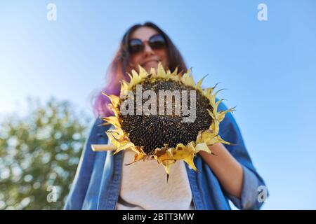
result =
[[[226,109],[227,107],[223,103],[218,107],[218,111],[225,111]],[[241,198],[226,194],[228,199],[238,209],[260,209],[264,203],[263,197],[268,197],[268,190],[251,162],[242,134],[232,113],[227,113],[224,120],[220,123],[219,134],[225,141],[232,143],[232,145],[225,145],[225,148],[242,165],[243,169]]]

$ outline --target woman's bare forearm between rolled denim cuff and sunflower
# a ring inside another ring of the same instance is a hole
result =
[[[209,146],[209,149],[217,156],[204,151],[199,151],[199,155],[211,167],[225,191],[229,195],[240,198],[243,183],[242,165],[228,152],[223,144],[214,144]]]

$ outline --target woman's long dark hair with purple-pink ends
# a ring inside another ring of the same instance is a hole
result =
[[[157,25],[154,25],[152,22],[145,22],[143,25],[136,24],[130,27],[126,33],[124,34],[123,38],[121,39],[121,43],[119,45],[119,50],[114,56],[114,59],[110,63],[109,68],[107,69],[106,75],[106,83],[105,87],[103,87],[95,97],[93,97],[93,113],[96,117],[106,117],[113,115],[113,112],[108,107],[110,104],[110,99],[108,99],[102,92],[106,94],[112,94],[119,96],[121,90],[121,83],[120,80],[129,81],[129,76],[127,75],[129,70],[129,38],[133,31],[140,27],[151,27],[155,29],[159,34],[164,36],[166,40],[166,48],[167,54],[169,58],[169,67],[165,69],[170,69],[173,71],[174,69],[178,68],[178,71],[186,71],[187,66],[183,60],[183,57],[180,55],[179,50],[176,48],[176,45],[173,44],[171,38],[162,31]]]

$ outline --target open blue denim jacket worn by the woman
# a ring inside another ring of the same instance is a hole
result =
[[[226,109],[223,103],[218,106],[218,111]],[[113,151],[93,152],[91,150],[91,144],[107,144],[105,131],[111,126],[98,126],[100,123],[103,123],[103,120],[96,119],[86,140],[64,209],[111,210],[116,208],[121,186],[122,151],[113,155]],[[224,140],[233,143],[233,145],[225,145],[225,148],[242,165],[244,171],[242,195],[241,198],[237,198],[225,193],[209,165],[198,153],[194,162],[200,173],[190,169],[185,163],[195,209],[231,209],[228,200],[232,201],[238,209],[260,209],[264,202],[258,200],[258,188],[265,186],[265,183],[251,162],[242,135],[231,113],[227,113],[220,123],[219,134]]]

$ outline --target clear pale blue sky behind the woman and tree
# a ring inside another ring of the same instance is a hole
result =
[[[55,3],[57,20],[46,6]],[[268,21],[257,19],[259,3]],[[92,115],[121,36],[150,20],[196,80],[220,82],[258,172],[263,209],[316,209],[315,1],[1,1],[0,115],[27,96],[68,99]],[[314,28],[313,28],[314,27]]]

